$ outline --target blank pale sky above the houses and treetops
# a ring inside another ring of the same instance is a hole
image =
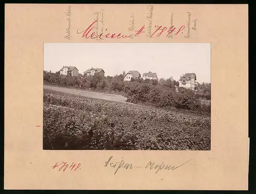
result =
[[[89,68],[102,68],[105,76],[137,70],[141,76],[151,71],[158,78],[175,80],[196,73],[198,82],[210,82],[208,43],[46,43],[44,70],[59,71],[75,66],[83,74]]]

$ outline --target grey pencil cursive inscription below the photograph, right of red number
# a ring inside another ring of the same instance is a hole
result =
[[[105,161],[105,167],[114,168],[115,169],[114,175],[116,175],[117,171],[119,169],[121,169],[121,168],[125,169],[125,170],[127,170],[127,169],[131,170],[133,168],[149,169],[149,170],[154,170],[155,174],[157,174],[159,170],[175,170],[175,169],[183,166],[184,164],[186,164],[190,160],[192,160],[192,159],[187,160],[186,162],[181,163],[178,166],[173,166],[173,165],[170,165],[170,164],[165,164],[164,162],[162,162],[160,164],[157,164],[157,163],[152,162],[152,161],[149,161],[145,165],[137,166],[137,165],[134,165],[132,163],[127,163],[123,159],[121,161],[118,161],[118,162],[113,162],[112,159],[113,159],[113,156],[111,156],[107,161]]]

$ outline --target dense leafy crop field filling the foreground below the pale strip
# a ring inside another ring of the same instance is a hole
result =
[[[210,150],[210,116],[44,93],[44,149]]]

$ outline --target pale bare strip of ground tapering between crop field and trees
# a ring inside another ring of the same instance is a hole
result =
[[[60,87],[54,87],[50,85],[44,85],[44,91],[46,92],[61,92],[66,94],[73,94],[77,96],[84,96],[89,98],[98,98],[102,100],[111,100],[116,102],[126,102],[127,98],[117,95],[117,94],[104,94],[104,93],[97,93],[97,92],[89,92],[89,91],[82,91],[82,90],[76,90],[76,89],[69,89],[69,88],[60,88]]]

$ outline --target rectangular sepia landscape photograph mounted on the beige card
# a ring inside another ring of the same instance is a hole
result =
[[[44,44],[43,148],[210,150],[210,44]]]

